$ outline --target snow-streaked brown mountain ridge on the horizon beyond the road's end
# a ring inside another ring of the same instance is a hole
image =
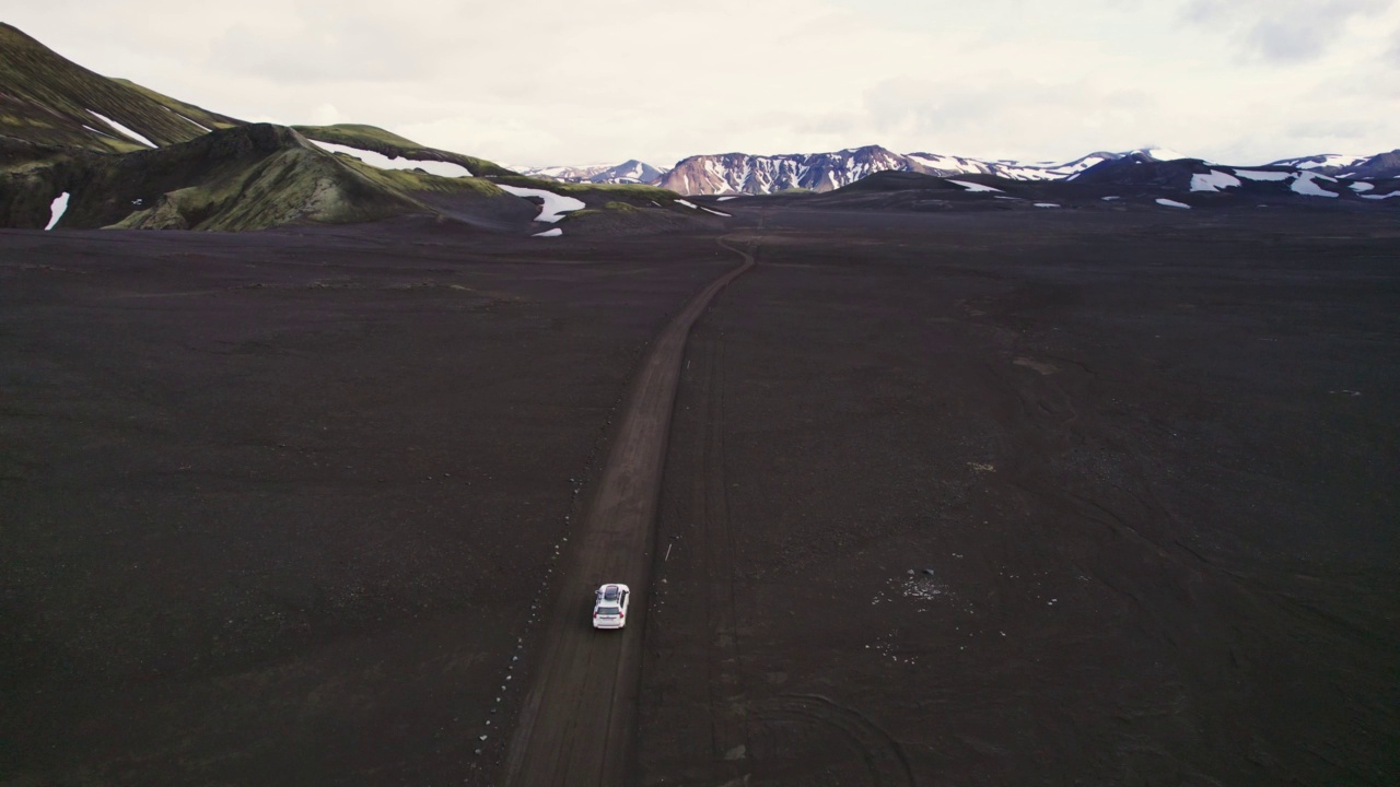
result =
[[[788,155],[725,153],[685,158],[662,176],[657,185],[689,195],[766,195],[792,189],[830,192],[875,172],[890,169],[944,178],[955,175],[995,175],[1012,181],[1058,181],[1088,169],[1095,164],[1131,154],[1144,155],[1152,161],[1184,158],[1175,151],[1163,148],[1145,148],[1127,153],[1098,151],[1063,164],[983,161],[934,153],[900,154],[879,146]]]

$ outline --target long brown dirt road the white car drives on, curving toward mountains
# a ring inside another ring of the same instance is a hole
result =
[[[671,434],[671,410],[690,326],[743,265],[693,297],[652,343],[633,379],[598,493],[560,578],[549,611],[529,693],[517,718],[504,763],[505,784],[519,787],[617,786],[627,781],[636,738],[641,640],[651,584],[657,499]],[[592,591],[626,583],[633,598],[627,627],[595,632]]]

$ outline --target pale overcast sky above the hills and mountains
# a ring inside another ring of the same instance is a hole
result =
[[[1400,147],[1400,0],[0,0],[94,71],[512,165]]]

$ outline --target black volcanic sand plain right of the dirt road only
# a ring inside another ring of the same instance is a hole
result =
[[[1393,221],[767,227],[687,353],[641,784],[1400,783]]]

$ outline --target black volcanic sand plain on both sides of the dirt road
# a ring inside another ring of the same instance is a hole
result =
[[[755,210],[640,784],[1400,781],[1393,221]],[[0,232],[0,783],[491,783],[633,365],[736,263]]]

